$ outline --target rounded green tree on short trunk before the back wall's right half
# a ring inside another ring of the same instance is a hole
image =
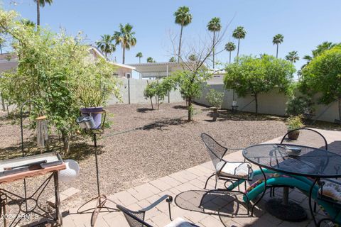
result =
[[[268,93],[275,87],[287,92],[293,79],[295,67],[286,60],[264,55],[261,58],[244,56],[239,62],[227,65],[224,86],[234,89],[239,96],[254,96],[258,114],[259,94]]]

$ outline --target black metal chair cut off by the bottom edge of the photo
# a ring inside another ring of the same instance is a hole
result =
[[[130,209],[126,209],[124,206],[117,205],[117,209],[123,212],[124,217],[126,218],[126,221],[129,223],[130,227],[153,227],[151,224],[146,223],[144,221],[144,218],[146,216],[146,211],[149,211],[150,209],[153,209],[155,206],[161,203],[161,201],[165,201],[168,203],[168,209],[169,209],[169,219],[172,221],[171,216],[171,203],[173,201],[172,196],[164,195],[157,201],[155,201],[153,204],[147,206],[144,209],[141,209],[139,211],[131,211]],[[187,221],[184,221],[182,218],[175,218],[171,223],[169,223],[165,227],[199,227],[195,226],[193,223],[189,223]]]

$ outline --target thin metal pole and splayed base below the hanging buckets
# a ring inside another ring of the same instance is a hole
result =
[[[111,199],[108,199],[107,196],[104,194],[101,194],[100,189],[99,189],[99,170],[98,170],[98,158],[97,158],[97,133],[95,131],[92,131],[92,135],[94,138],[94,158],[95,158],[95,164],[96,164],[96,177],[97,177],[97,197],[94,197],[93,199],[90,199],[89,201],[85,202],[80,208],[77,210],[78,214],[89,214],[92,211],[91,215],[91,226],[94,226],[94,224],[97,221],[97,217],[99,213],[111,213],[114,211],[119,211],[116,208],[112,208],[109,206],[106,206],[105,204],[107,201],[111,201],[112,203],[116,204],[114,201]],[[83,211],[82,208],[86,205],[89,204],[90,202],[97,200],[96,206],[94,208],[90,209],[85,209]],[[106,211],[102,211],[102,209],[106,209]]]

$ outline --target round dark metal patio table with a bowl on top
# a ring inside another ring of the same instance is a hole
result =
[[[288,155],[287,148],[301,149],[301,153],[297,156]],[[322,178],[341,177],[341,155],[337,155],[328,150],[310,148],[303,145],[271,143],[252,145],[249,148],[245,148],[243,150],[243,156],[249,162],[258,165],[264,176],[264,192],[255,202],[254,206],[262,199],[266,192],[266,188],[271,187],[271,185],[266,185],[267,179],[264,169],[273,170],[291,177],[301,176],[315,179],[309,192],[309,209],[315,225],[317,225],[311,205],[313,187]],[[270,214],[281,219],[303,221],[303,219],[306,218],[304,209],[300,205],[288,201],[288,187],[284,187],[283,192],[283,201],[278,202],[278,199],[270,199],[266,202],[266,210]],[[252,207],[252,211],[254,206]]]

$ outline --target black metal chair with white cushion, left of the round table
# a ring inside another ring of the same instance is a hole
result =
[[[245,190],[247,189],[247,180],[251,180],[253,177],[253,170],[249,162],[228,162],[224,160],[224,155],[227,150],[240,150],[240,149],[227,149],[217,143],[210,135],[206,133],[201,134],[202,141],[205,143],[208,153],[212,159],[213,165],[215,167],[215,172],[208,177],[205,183],[204,189],[207,187],[207,182],[215,176],[215,189],[217,189],[218,179],[223,180],[224,186],[227,189],[227,182],[239,182],[244,181]],[[232,191],[231,191],[232,192]],[[238,184],[238,191],[239,189]]]

